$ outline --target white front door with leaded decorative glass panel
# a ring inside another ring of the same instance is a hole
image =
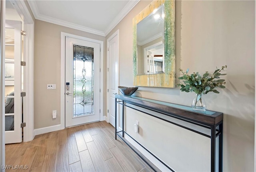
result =
[[[65,127],[100,120],[100,44],[66,37]]]

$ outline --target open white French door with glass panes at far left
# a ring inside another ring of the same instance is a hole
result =
[[[5,143],[22,142],[22,22],[6,20],[5,32]],[[15,106],[14,106],[15,105]]]

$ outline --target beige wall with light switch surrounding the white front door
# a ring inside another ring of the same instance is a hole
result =
[[[106,39],[40,20],[36,20],[34,32],[34,129],[37,129],[60,124],[60,32],[101,40],[104,44]],[[56,90],[47,90],[47,84],[56,84]],[[57,110],[55,119],[52,110]]]

